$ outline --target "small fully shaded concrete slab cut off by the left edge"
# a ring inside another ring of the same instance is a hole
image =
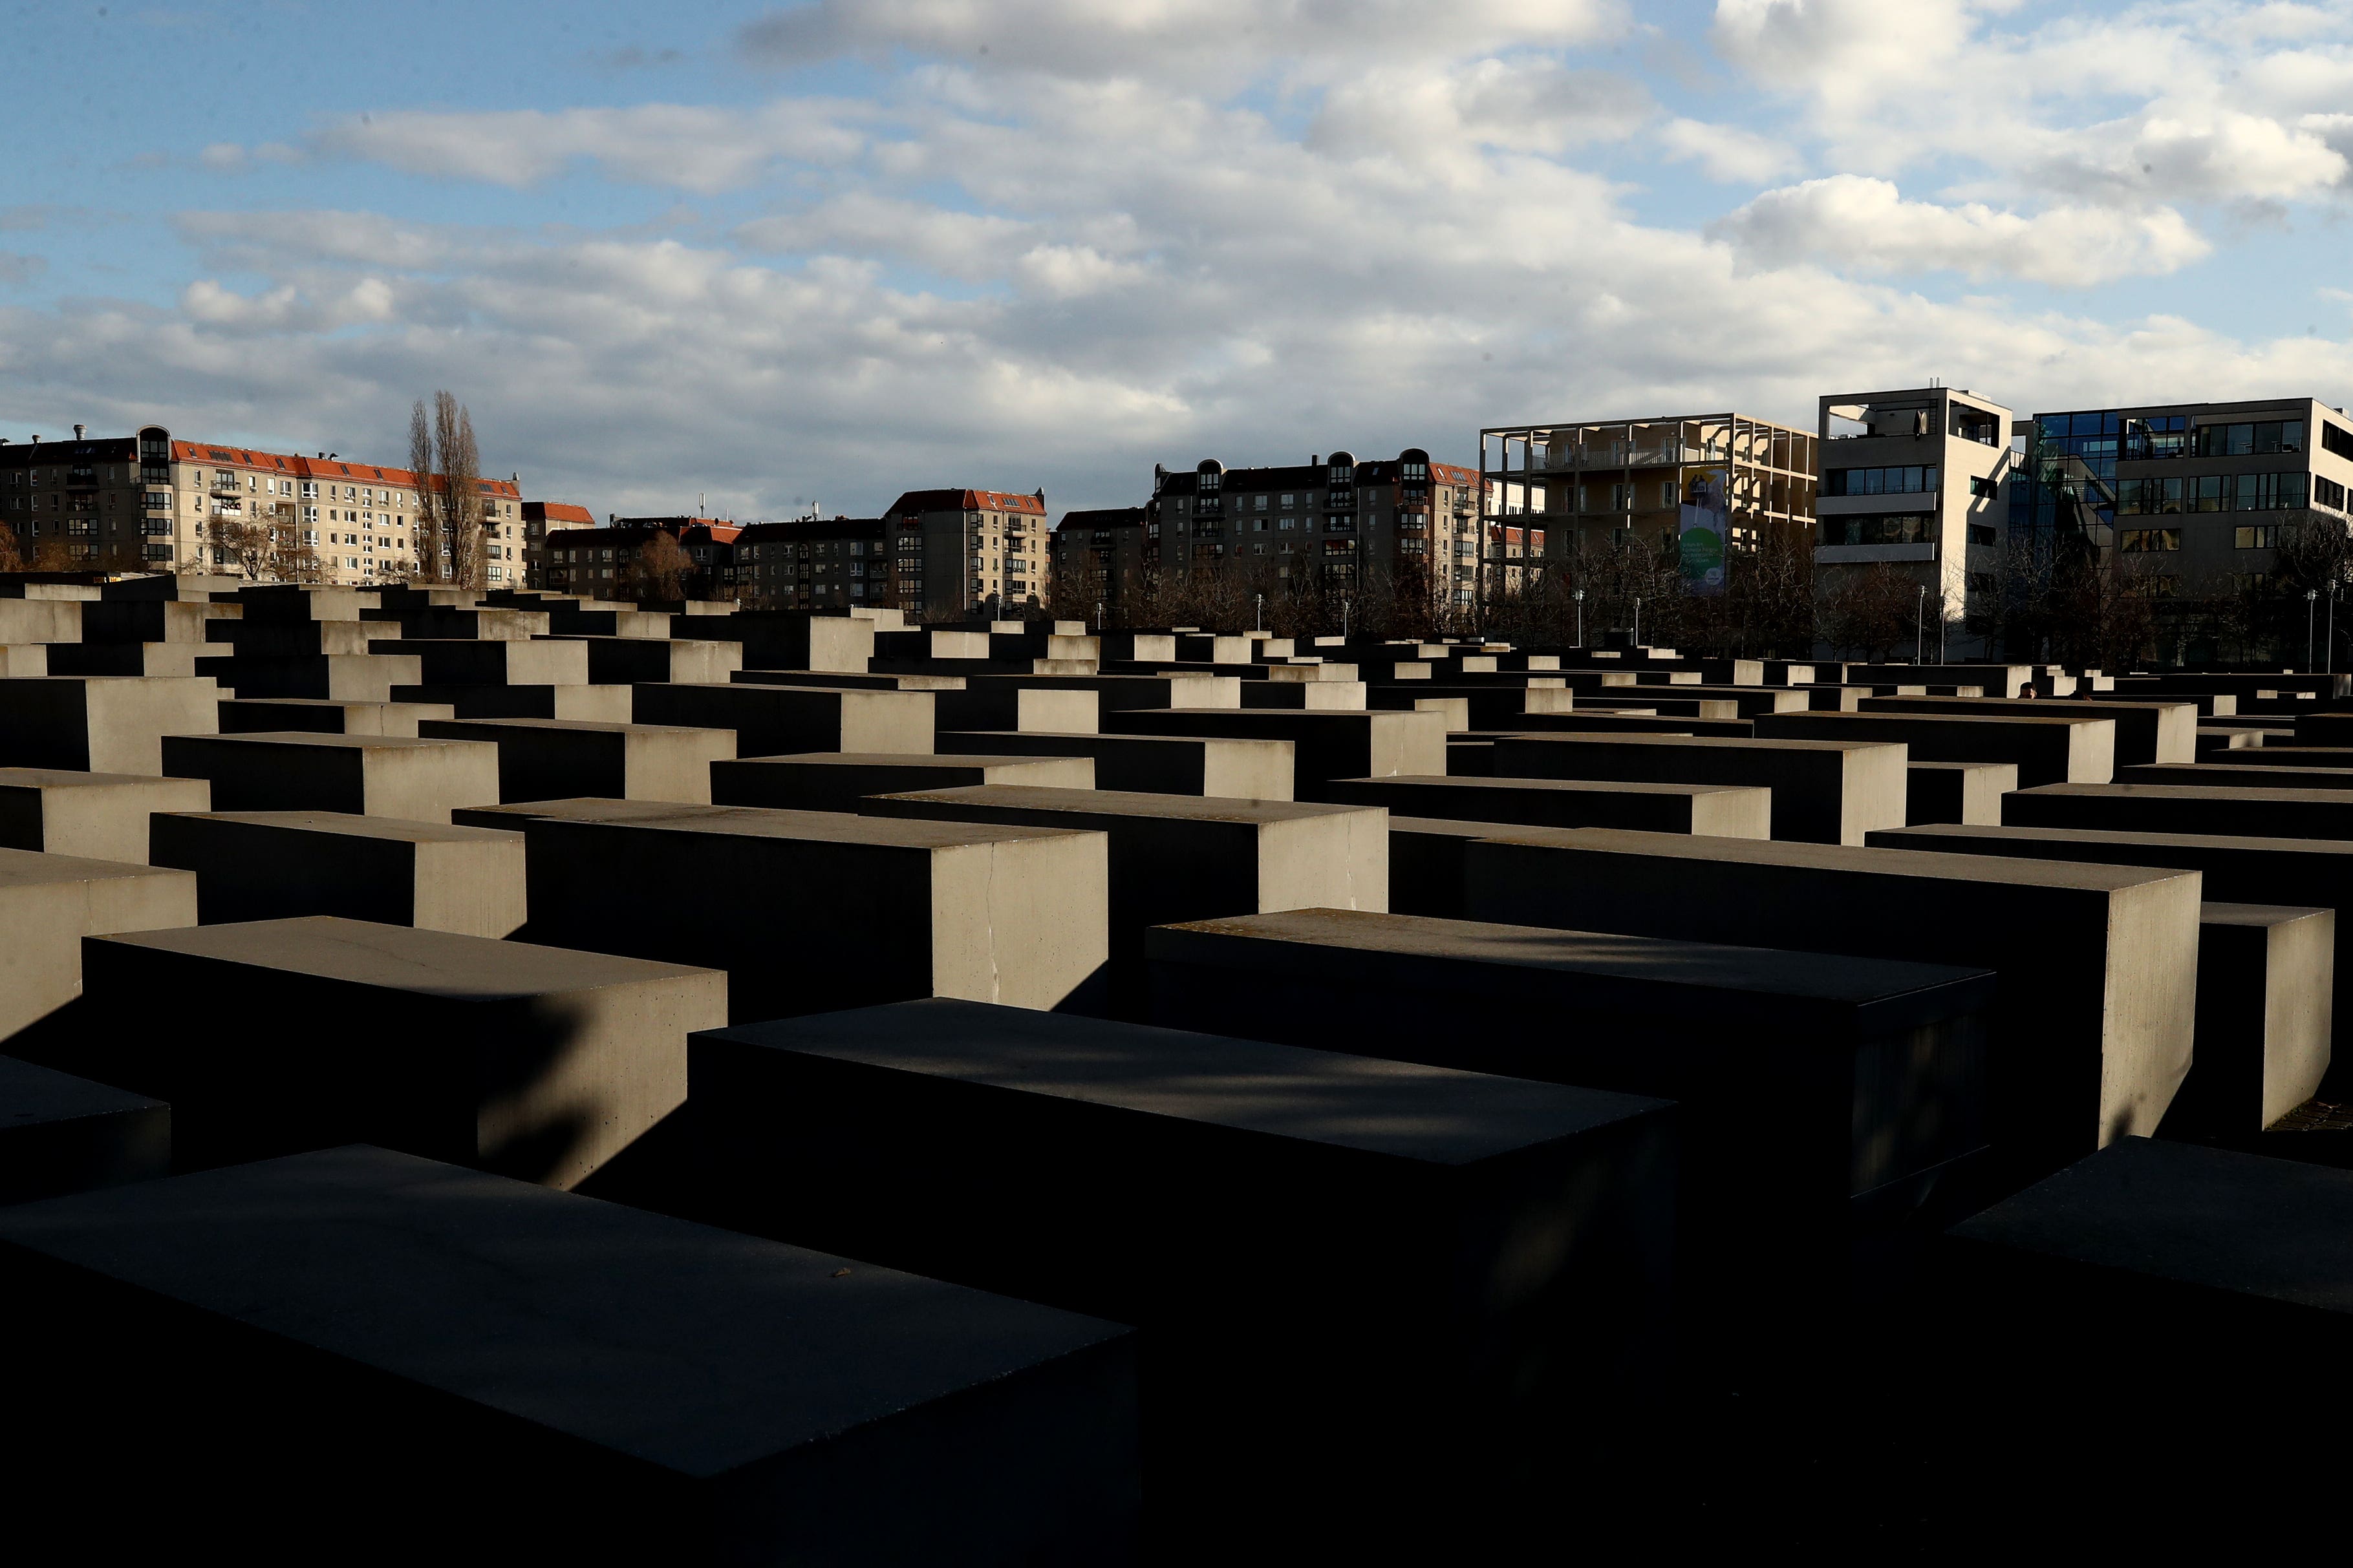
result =
[[[169,1105],[0,1056],[0,1206],[169,1173]]]

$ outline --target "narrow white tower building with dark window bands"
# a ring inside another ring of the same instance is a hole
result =
[[[2000,595],[2009,409],[1967,388],[1929,386],[1824,397],[1817,418],[1817,602],[1857,571],[1889,567],[1925,590],[1929,656],[1988,656],[1967,623]]]

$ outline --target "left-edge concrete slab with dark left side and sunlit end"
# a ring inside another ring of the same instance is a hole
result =
[[[165,773],[162,736],[214,733],[219,701],[205,677],[0,679],[0,766]]]

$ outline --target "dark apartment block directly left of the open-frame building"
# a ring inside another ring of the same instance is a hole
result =
[[[1478,475],[1433,463],[1421,447],[1367,461],[1311,454],[1304,465],[1275,468],[1217,458],[1191,473],[1155,465],[1144,512],[1144,559],[1165,574],[1249,562],[1275,578],[1315,574],[1346,592],[1381,569],[1400,585],[1426,581],[1468,604],[1480,557]]]

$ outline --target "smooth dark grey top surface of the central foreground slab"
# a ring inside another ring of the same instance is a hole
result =
[[[694,1039],[826,1056],[1445,1166],[1569,1138],[1666,1105],[986,1001],[901,1001],[706,1030]]]

